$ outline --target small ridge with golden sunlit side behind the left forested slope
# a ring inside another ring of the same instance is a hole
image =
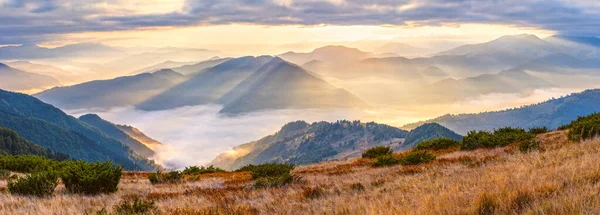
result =
[[[100,129],[100,131],[109,137],[129,146],[129,148],[133,149],[134,152],[145,158],[154,156],[154,151],[152,151],[152,149],[123,132],[117,125],[100,118],[100,116],[96,114],[86,114],[80,116],[79,120]]]

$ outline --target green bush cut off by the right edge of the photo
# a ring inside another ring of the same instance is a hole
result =
[[[591,139],[600,135],[600,113],[579,117],[566,126],[569,128],[569,139],[581,141]]]

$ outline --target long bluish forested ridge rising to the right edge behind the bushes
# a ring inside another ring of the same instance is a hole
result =
[[[466,134],[470,130],[493,130],[506,126],[521,128],[546,126],[555,129],[579,116],[596,112],[600,112],[600,89],[586,90],[520,108],[477,114],[444,115],[408,124],[403,128],[410,129],[424,123],[435,122],[459,134]]]

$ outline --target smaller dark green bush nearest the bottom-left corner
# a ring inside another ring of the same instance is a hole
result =
[[[46,197],[52,195],[58,185],[55,171],[33,173],[8,182],[8,191],[14,195]]]

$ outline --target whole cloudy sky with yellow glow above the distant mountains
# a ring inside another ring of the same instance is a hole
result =
[[[0,0],[0,44],[254,49],[519,33],[600,35],[600,1]]]

